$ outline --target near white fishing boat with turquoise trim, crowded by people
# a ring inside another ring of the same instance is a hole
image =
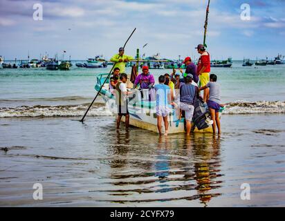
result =
[[[108,74],[100,74],[97,77],[97,82],[95,84],[95,90],[99,91],[104,80]],[[100,95],[104,99],[104,102],[107,104],[109,110],[113,113],[117,113],[116,100],[115,97],[108,90],[109,81],[107,80],[104,84]],[[137,90],[134,95],[129,97],[128,110],[129,110],[129,124],[136,126],[138,128],[143,128],[148,131],[153,131],[158,133],[157,129],[157,119],[156,119],[156,101],[148,100],[148,91],[149,90]],[[143,99],[147,97],[147,99]],[[199,102],[197,102],[199,103]],[[168,118],[169,129],[168,133],[185,133],[185,119],[178,119],[177,117],[177,108],[169,106],[170,114]],[[222,111],[222,110],[221,110]],[[212,125],[210,120],[210,113],[207,111],[206,107],[203,107],[198,104],[195,107],[196,116],[193,118],[192,131],[201,132],[201,133],[212,133]],[[122,121],[125,121],[125,117],[122,117]],[[194,126],[196,125],[196,126]],[[165,128],[162,128],[163,133],[165,133]]]

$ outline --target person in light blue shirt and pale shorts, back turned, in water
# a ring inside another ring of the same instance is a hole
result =
[[[169,105],[171,104],[171,90],[169,86],[165,85],[165,76],[160,75],[158,77],[159,84],[154,86],[156,90],[156,116],[157,116],[157,128],[158,133],[161,135],[162,121],[165,125],[165,135],[168,133],[168,115],[170,113]]]

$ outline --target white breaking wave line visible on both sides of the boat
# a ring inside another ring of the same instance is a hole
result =
[[[84,115],[89,104],[62,106],[17,106],[0,108],[0,117],[79,117]],[[245,102],[237,101],[226,104],[223,115],[239,114],[275,114],[285,113],[285,102]],[[87,114],[88,116],[113,115],[104,104],[96,103]]]

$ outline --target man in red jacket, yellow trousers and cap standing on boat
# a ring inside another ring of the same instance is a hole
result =
[[[199,76],[201,87],[203,87],[206,84],[208,84],[208,82],[210,81],[210,75],[209,75],[211,71],[210,54],[206,51],[203,44],[199,44],[196,47],[196,49],[201,55],[198,61],[197,75]],[[207,102],[208,98],[209,98],[209,88],[204,90],[203,93],[204,102]]]

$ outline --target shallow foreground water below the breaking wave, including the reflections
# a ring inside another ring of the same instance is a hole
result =
[[[285,206],[285,116],[223,115],[222,129],[159,138],[113,117],[1,118],[0,206]]]

